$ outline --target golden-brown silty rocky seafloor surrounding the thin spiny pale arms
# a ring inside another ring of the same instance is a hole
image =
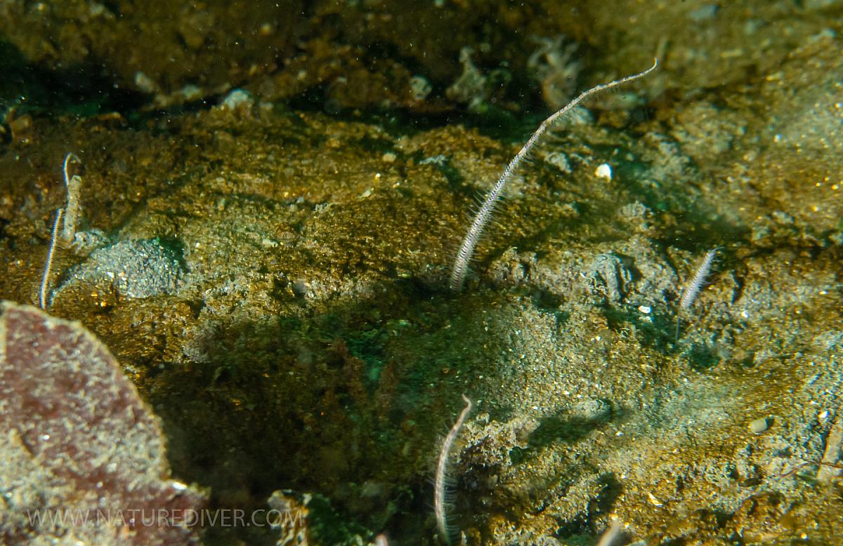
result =
[[[0,299],[38,304],[75,153],[48,312],[210,508],[303,515],[204,543],[442,543],[462,394],[453,543],[843,543],[841,33],[836,0],[0,2]],[[653,56],[541,142],[450,291],[540,121]],[[8,543],[84,543],[10,499]]]

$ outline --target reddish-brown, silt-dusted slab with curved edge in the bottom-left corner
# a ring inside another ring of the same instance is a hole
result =
[[[203,495],[170,479],[158,418],[108,349],[78,323],[0,311],[3,542],[196,543]]]

